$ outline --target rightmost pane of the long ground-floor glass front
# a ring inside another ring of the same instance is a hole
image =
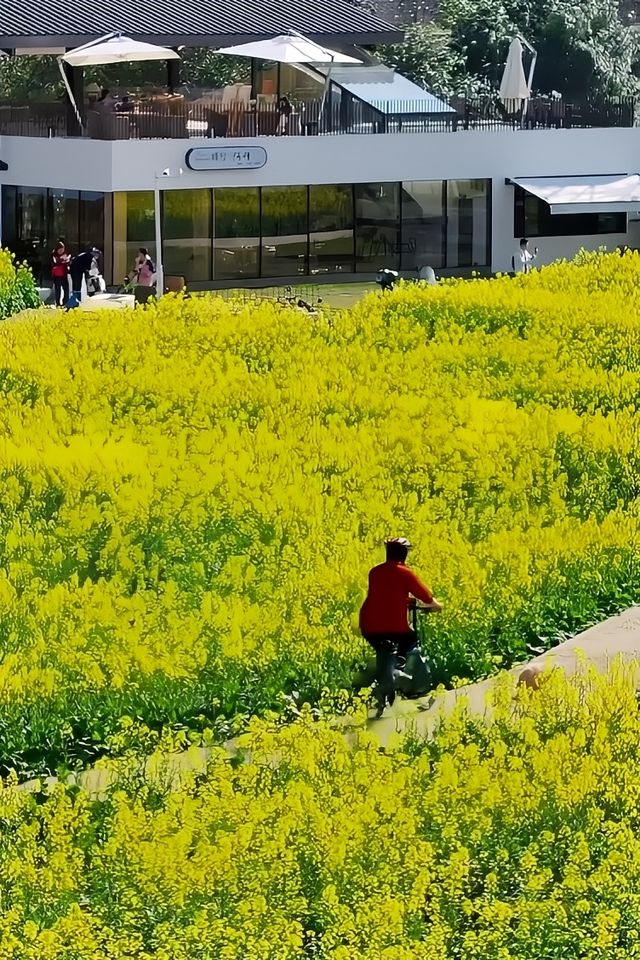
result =
[[[485,267],[491,260],[491,181],[447,181],[447,267]]]

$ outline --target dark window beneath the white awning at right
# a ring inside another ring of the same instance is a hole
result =
[[[551,213],[544,200],[515,188],[514,237],[588,237],[626,233],[626,213]]]

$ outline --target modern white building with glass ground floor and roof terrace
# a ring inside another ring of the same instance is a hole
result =
[[[183,2],[154,8],[154,32],[141,34],[122,0],[105,0],[91,30],[121,27],[174,47],[289,28],[352,52],[398,39],[343,0],[300,9],[209,0],[193,23]],[[59,52],[91,38],[84,9],[14,7],[0,18],[7,51]],[[109,114],[72,74],[82,127],[60,102],[0,101],[2,243],[43,277],[58,237],[72,249],[96,244],[107,280],[119,283],[140,246],[156,255],[160,188],[165,274],[193,288],[347,279],[382,266],[502,271],[522,236],[543,263],[581,247],[640,246],[632,104],[538,102],[523,128],[495,105],[447,105],[372,64],[349,70],[332,70],[324,102],[326,71],[252,63],[235,89],[141,96]],[[177,82],[170,69],[168,86]]]

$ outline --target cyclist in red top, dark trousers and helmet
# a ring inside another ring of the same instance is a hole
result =
[[[411,544],[405,537],[385,543],[387,559],[369,571],[369,591],[360,610],[360,632],[376,652],[377,716],[395,700],[398,657],[406,658],[417,644],[408,621],[412,598],[433,611],[442,610],[431,590],[406,565]]]

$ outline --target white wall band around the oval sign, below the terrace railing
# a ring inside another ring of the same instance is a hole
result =
[[[165,168],[184,173],[163,178],[163,189],[367,183],[385,180],[493,179],[492,266],[509,268],[514,250],[513,188],[505,178],[640,172],[640,129],[505,130],[457,133],[263,137],[225,140],[267,151],[261,170],[194,173],[191,147],[210,140],[0,139],[9,171],[0,183],[81,190],[149,190]],[[634,234],[635,235],[635,234]],[[627,236],[540,239],[541,261],[571,256],[581,246],[615,247]]]

